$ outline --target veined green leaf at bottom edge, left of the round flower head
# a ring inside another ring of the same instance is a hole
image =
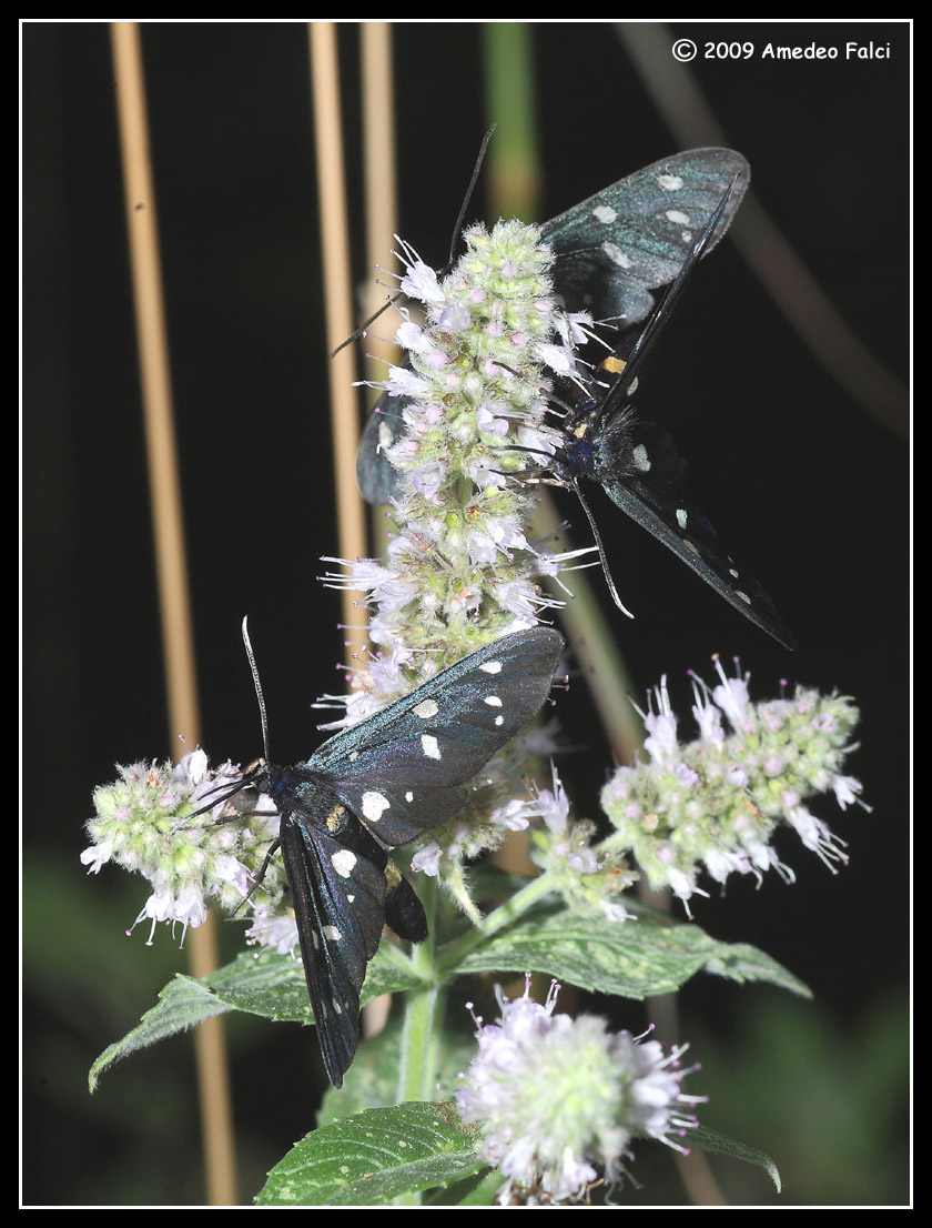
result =
[[[384,1206],[484,1164],[451,1104],[367,1109],[314,1130],[269,1173],[259,1206]]]

